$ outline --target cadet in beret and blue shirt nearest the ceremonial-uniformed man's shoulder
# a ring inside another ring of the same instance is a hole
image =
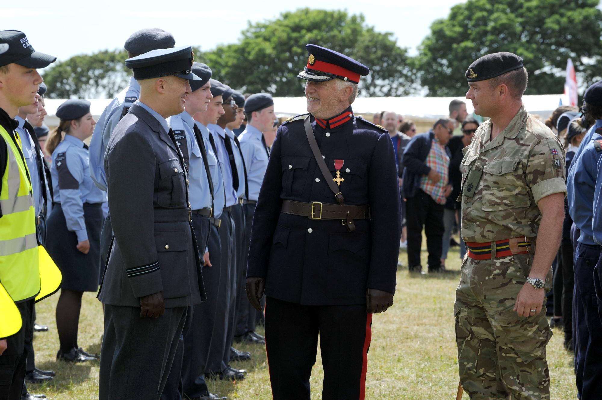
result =
[[[270,150],[265,143],[263,132],[273,129],[276,115],[274,114],[274,100],[268,93],[255,93],[247,98],[243,105],[247,118],[247,127],[240,134],[240,148],[246,162],[247,178],[249,180],[249,197],[244,199],[244,212],[246,216],[246,229],[244,234],[243,262],[245,267],[249,258],[251,241],[251,222],[255,214],[255,206],[259,196],[259,189],[267,169]],[[239,292],[245,292],[244,284]],[[247,343],[265,344],[265,338],[255,332],[257,311],[250,302],[244,302],[238,318],[237,335],[241,341]]]

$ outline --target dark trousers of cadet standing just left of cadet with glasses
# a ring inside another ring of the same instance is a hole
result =
[[[234,222],[232,221],[231,213],[225,212],[220,216],[222,225],[217,229],[220,235],[220,250],[221,250],[221,263],[220,263],[220,286],[217,289],[217,312],[215,325],[213,329],[213,339],[211,341],[211,348],[209,350],[209,358],[205,372],[219,372],[228,366],[230,361],[230,346],[226,348],[226,342],[230,343],[226,339],[228,336],[229,322],[233,321],[231,318],[234,314],[231,314],[231,308],[234,308],[234,301],[236,298],[236,292],[232,292],[232,286],[235,284],[235,276],[233,273],[233,262],[235,259],[235,243],[234,243]],[[211,247],[209,247],[209,257],[211,257]],[[211,263],[214,261],[212,258]],[[205,275],[203,274],[203,279]],[[205,288],[206,289],[206,288]],[[232,332],[230,332],[232,335]],[[225,356],[228,354],[228,362],[224,362]]]

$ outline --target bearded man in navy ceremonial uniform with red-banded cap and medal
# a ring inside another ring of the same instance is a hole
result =
[[[275,400],[308,400],[318,335],[323,399],[364,399],[373,313],[393,305],[401,235],[388,132],[351,104],[369,69],[308,44],[309,114],[283,124],[253,218],[246,290],[265,305]],[[291,352],[294,349],[294,352]],[[341,365],[344,368],[341,368]]]

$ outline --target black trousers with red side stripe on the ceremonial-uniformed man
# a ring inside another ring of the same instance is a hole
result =
[[[303,306],[268,297],[265,345],[274,400],[309,400],[320,338],[323,400],[364,400],[372,314],[365,305]]]

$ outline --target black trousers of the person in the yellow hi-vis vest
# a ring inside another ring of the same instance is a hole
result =
[[[34,335],[34,300],[17,303],[21,329],[6,338],[7,349],[0,356],[0,400],[19,400],[25,379],[26,360]]]

